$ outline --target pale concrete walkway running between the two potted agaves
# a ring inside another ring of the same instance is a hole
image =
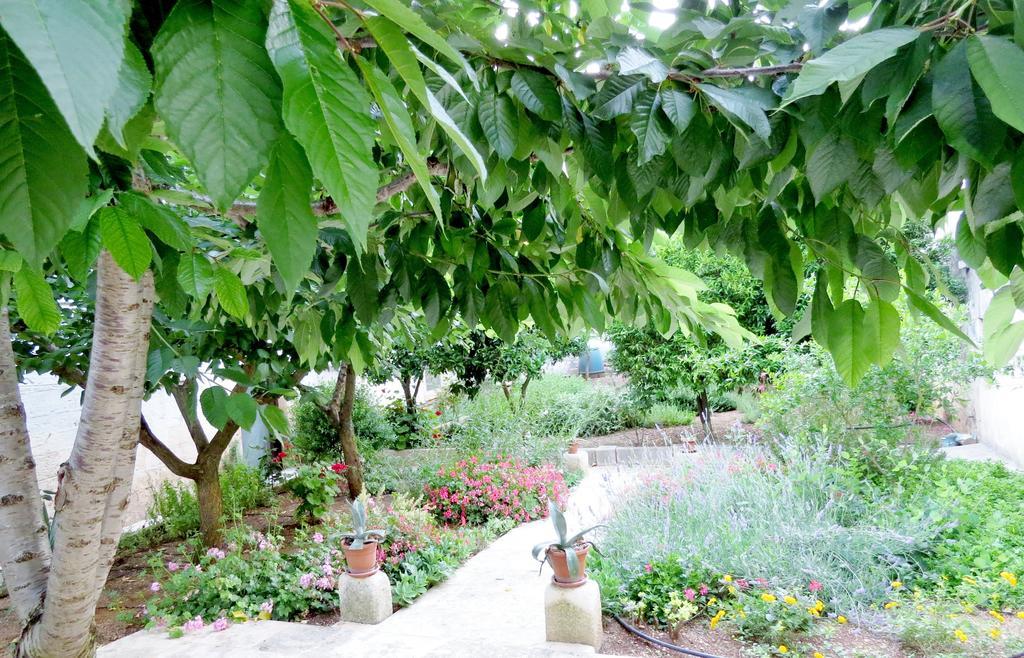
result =
[[[573,490],[571,527],[593,525],[610,511],[604,494],[610,470],[596,470]],[[200,631],[178,640],[141,631],[106,645],[102,658],[144,656],[455,656],[487,658],[593,655],[593,649],[544,639],[546,567],[529,555],[554,534],[548,520],[521,525],[471,558],[446,582],[384,622],[309,626],[261,621],[221,632]]]

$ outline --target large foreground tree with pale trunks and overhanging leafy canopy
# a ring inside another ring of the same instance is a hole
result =
[[[531,25],[449,0],[4,3],[0,566],[19,655],[94,650],[157,296],[337,366],[345,445],[369,336],[398,307],[437,336],[456,315],[507,343],[527,320],[555,338],[615,317],[737,345],[733,314],[648,253],[680,227],[742,254],[785,314],[818,261],[812,333],[855,382],[891,360],[900,297],[957,333],[900,227],[964,209],[961,255],[999,287],[986,355],[1016,352],[1024,29],[1008,2],[736,0],[664,32],[643,4],[543,9]],[[841,32],[851,11],[867,20]],[[211,215],[237,230],[180,239]],[[48,276],[95,295],[52,549],[8,322],[59,326]]]

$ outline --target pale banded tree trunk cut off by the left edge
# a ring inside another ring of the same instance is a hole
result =
[[[23,625],[43,603],[50,563],[35,467],[4,307],[0,309],[0,567]]]

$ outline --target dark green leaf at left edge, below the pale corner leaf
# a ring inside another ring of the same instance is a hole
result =
[[[39,266],[85,198],[88,168],[42,81],[3,31],[0,163],[0,233]]]

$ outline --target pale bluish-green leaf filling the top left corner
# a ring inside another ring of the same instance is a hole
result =
[[[90,155],[118,85],[129,6],[114,0],[4,0],[0,11],[0,25]],[[48,98],[33,98],[49,104]]]

